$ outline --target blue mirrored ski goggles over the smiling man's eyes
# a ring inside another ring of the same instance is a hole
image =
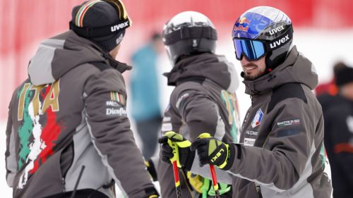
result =
[[[249,61],[256,61],[266,54],[266,47],[263,41],[251,39],[233,39],[235,56],[241,61],[243,56]]]

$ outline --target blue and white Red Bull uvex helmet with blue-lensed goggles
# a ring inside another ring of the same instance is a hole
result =
[[[292,21],[276,8],[258,6],[237,19],[232,37],[239,61],[243,56],[249,61],[265,56],[266,71],[270,72],[285,61],[292,49]]]

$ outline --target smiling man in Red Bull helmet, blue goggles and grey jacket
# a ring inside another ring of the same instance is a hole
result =
[[[214,137],[191,144],[198,154],[191,171],[204,175],[199,163],[214,164],[231,176],[219,180],[232,183],[233,197],[332,196],[323,113],[311,92],[318,76],[293,47],[292,33],[291,20],[276,8],[251,8],[238,18],[232,37],[252,101],[240,144]]]

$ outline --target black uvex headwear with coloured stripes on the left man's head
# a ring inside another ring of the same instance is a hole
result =
[[[85,1],[83,4],[75,6],[72,10],[71,26],[75,25],[78,28],[104,27],[107,25],[123,23],[124,19],[121,19],[120,16],[124,16],[124,13],[119,13],[119,10],[114,8],[114,6],[108,2],[109,1],[93,0]],[[95,42],[95,44],[99,45],[105,52],[112,51],[112,49],[121,42],[125,35],[125,28],[116,30],[113,34],[110,33],[110,35],[103,35],[100,37],[89,37],[88,35],[80,34],[76,28],[71,27],[71,29],[81,37],[85,37],[86,39]]]

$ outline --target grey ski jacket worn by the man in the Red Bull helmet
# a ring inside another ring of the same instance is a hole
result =
[[[244,80],[252,105],[227,171],[233,197],[331,197],[323,112],[311,92],[317,83],[315,68],[296,47],[271,73]],[[197,166],[194,162],[191,171],[198,172]]]

